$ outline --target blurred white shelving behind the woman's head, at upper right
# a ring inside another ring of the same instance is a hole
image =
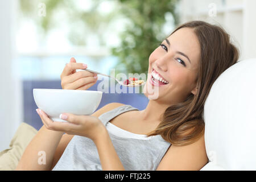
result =
[[[204,20],[220,24],[240,48],[240,60],[256,57],[256,1],[253,0],[181,0],[180,21]]]

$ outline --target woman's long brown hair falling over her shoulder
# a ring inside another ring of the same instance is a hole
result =
[[[193,28],[200,42],[197,93],[195,96],[191,93],[185,101],[168,107],[162,115],[162,122],[155,131],[148,134],[160,134],[163,139],[176,146],[196,142],[204,134],[202,114],[210,88],[239,58],[238,49],[231,43],[229,34],[222,27],[203,21],[192,21],[177,27],[174,32],[184,27]]]

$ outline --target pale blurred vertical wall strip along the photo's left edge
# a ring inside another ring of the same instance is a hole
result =
[[[15,1],[0,1],[0,150],[9,146],[23,121],[22,78],[16,61],[15,10]]]

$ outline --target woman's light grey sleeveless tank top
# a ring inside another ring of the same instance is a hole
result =
[[[98,118],[106,126],[117,115],[131,110],[138,109],[130,105],[122,105]],[[123,167],[127,171],[155,170],[171,145],[161,135],[152,136],[147,140],[123,138],[112,133],[109,133],[109,136]],[[102,170],[96,145],[89,138],[75,135],[52,170]]]

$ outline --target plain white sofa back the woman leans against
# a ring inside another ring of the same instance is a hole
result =
[[[214,82],[204,106],[206,170],[256,170],[256,59]]]

